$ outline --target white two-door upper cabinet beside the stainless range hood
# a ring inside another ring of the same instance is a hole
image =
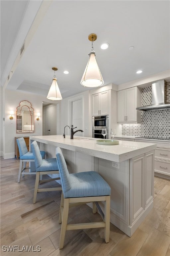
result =
[[[141,93],[137,87],[117,92],[117,122],[140,123],[141,112],[136,110],[141,106]]]

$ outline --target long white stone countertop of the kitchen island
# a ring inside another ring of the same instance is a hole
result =
[[[118,145],[99,145],[95,138],[74,136],[71,140],[70,136],[65,137],[64,139],[62,135],[30,136],[30,140],[118,163],[156,148],[156,144],[145,142],[119,141]]]

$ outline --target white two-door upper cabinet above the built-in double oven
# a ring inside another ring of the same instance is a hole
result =
[[[108,91],[92,95],[92,115],[108,115]]]

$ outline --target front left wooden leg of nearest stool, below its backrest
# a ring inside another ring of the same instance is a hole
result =
[[[68,209],[69,209],[69,198],[64,198],[64,209],[63,209],[63,216],[62,216],[59,249],[62,249],[64,246],[64,237],[65,237],[65,231],[66,231],[67,219],[68,219]]]

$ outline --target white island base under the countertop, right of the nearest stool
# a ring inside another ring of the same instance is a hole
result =
[[[111,223],[131,236],[153,207],[154,150],[120,163],[98,159],[98,172],[111,187]]]

